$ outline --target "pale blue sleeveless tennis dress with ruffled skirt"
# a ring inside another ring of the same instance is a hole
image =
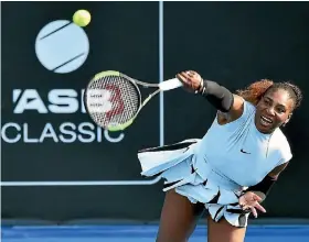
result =
[[[238,197],[292,156],[280,129],[271,134],[256,129],[255,110],[245,101],[241,118],[224,125],[215,118],[202,140],[140,151],[141,175],[161,176],[164,191],[174,188],[191,202],[204,204],[214,221],[224,217],[246,227],[249,212],[241,209]]]

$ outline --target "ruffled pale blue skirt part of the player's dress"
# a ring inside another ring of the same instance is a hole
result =
[[[192,139],[139,151],[141,175],[160,176],[166,179],[163,191],[174,189],[193,204],[204,204],[216,222],[225,218],[234,227],[246,227],[249,212],[238,205],[245,188],[198,158],[199,144]]]

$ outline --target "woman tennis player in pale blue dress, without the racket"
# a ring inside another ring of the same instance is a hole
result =
[[[292,157],[280,127],[300,106],[301,91],[264,79],[232,94],[192,70],[177,78],[217,114],[202,140],[138,153],[141,175],[166,179],[157,241],[187,241],[206,209],[209,242],[242,242],[249,213],[266,212],[260,204]]]

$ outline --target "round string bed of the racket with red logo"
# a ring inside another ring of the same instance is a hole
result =
[[[88,112],[102,127],[124,124],[138,112],[139,91],[131,81],[121,76],[95,79],[87,91]]]

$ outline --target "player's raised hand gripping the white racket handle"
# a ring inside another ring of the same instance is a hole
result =
[[[184,89],[190,92],[198,92],[203,87],[203,79],[194,70],[181,72],[175,77],[183,84]]]

